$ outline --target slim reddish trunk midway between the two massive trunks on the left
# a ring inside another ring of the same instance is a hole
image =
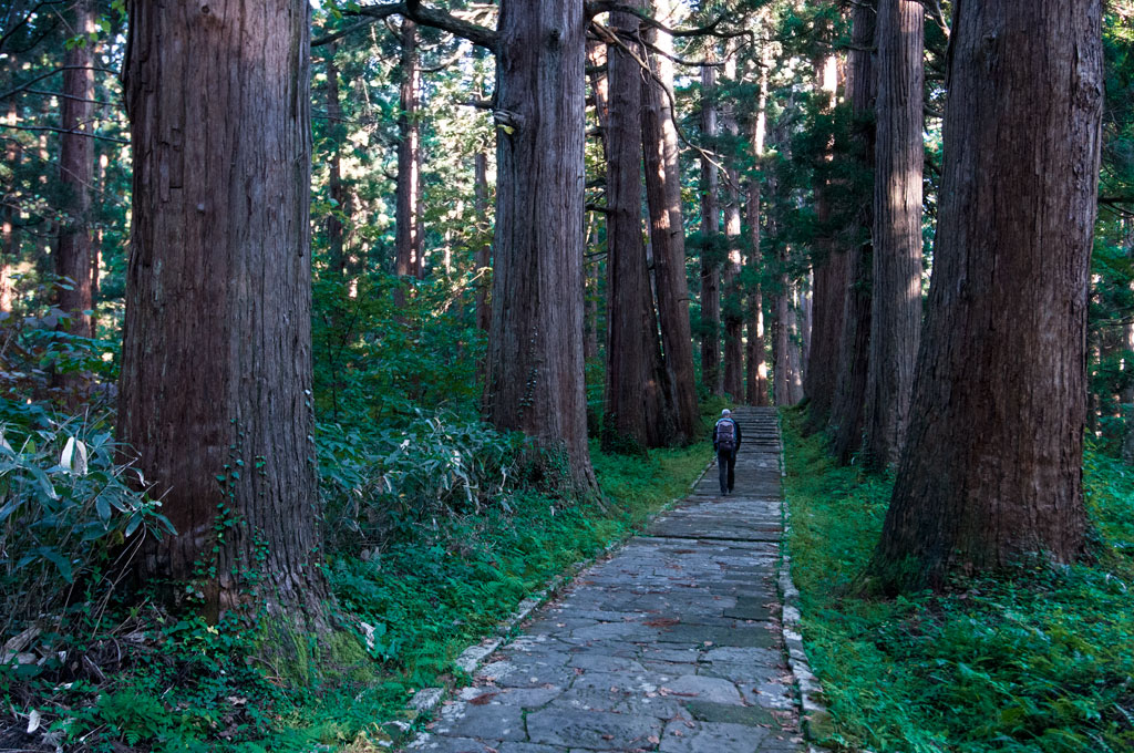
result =
[[[418,225],[421,201],[421,128],[417,124],[417,90],[421,71],[417,60],[417,25],[408,18],[401,22],[401,83],[398,86],[398,185],[393,215],[395,273],[420,278],[422,274],[422,239]],[[405,303],[399,291],[398,304]]]

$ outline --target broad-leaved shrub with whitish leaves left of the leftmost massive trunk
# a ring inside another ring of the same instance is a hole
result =
[[[0,629],[53,629],[113,591],[115,557],[144,535],[171,532],[159,504],[132,488],[141,474],[117,462],[102,420],[53,418],[9,405],[0,424]]]

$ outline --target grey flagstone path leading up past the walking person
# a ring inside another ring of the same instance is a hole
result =
[[[736,417],[734,494],[719,494],[710,468],[644,535],[534,612],[411,751],[805,750],[776,592],[776,414]]]

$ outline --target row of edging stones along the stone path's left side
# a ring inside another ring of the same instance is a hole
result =
[[[701,473],[699,473],[697,476],[689,483],[688,489],[686,489],[684,493],[672,498],[659,507],[654,513],[651,513],[641,527],[644,530],[657,516],[668,511],[674,505],[692,494],[697,484],[701,483],[701,480],[704,479],[705,474],[712,469],[713,463],[716,463],[716,457],[709,460],[709,464],[705,465]],[[508,640],[511,637],[513,629],[524,621],[533,610],[558,595],[566,586],[570,585],[572,581],[574,581],[579,573],[589,568],[591,565],[610,557],[616,551],[625,547],[626,543],[638,533],[640,532],[636,528],[627,531],[625,535],[611,541],[594,557],[581,559],[570,565],[564,573],[552,577],[551,581],[548,582],[548,585],[516,604],[516,609],[508,615],[508,617],[497,624],[491,635],[486,636],[480,643],[475,643],[462,651],[454,663],[468,675],[475,674],[476,670],[484,663],[484,659],[491,655],[501,645],[508,643]],[[418,714],[428,713],[445,701],[454,689],[457,688],[423,687],[414,693],[407,707],[411,710],[416,711]],[[404,733],[408,731],[413,726],[411,722],[403,720],[395,720],[389,724],[399,728]],[[409,743],[405,745],[406,750],[413,747],[414,743],[421,742],[423,736],[428,736],[428,733],[418,733],[413,741],[409,741]]]

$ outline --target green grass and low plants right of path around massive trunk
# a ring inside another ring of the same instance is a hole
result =
[[[891,482],[835,466],[785,414],[789,548],[804,638],[837,748],[878,753],[1134,750],[1134,469],[1084,459],[1093,561],[957,582],[892,601],[845,595]]]

